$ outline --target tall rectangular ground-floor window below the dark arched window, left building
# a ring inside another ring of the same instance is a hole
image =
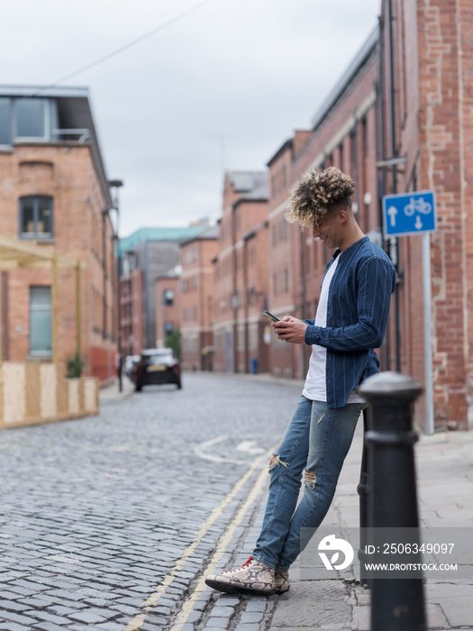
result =
[[[30,288],[30,355],[50,357],[51,292],[50,287]]]

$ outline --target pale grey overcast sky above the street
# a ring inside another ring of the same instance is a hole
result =
[[[51,85],[198,0],[3,2],[4,84]],[[120,233],[221,215],[224,169],[266,169],[377,25],[380,0],[208,0],[61,85],[88,87]]]

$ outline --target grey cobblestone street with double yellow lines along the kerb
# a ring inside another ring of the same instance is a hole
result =
[[[259,628],[270,601],[217,599],[199,578],[254,535],[297,398],[186,374],[182,390],[0,434],[0,629]]]

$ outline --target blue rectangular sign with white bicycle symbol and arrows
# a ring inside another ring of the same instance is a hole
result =
[[[432,233],[437,229],[435,193],[432,190],[385,195],[384,232],[387,237]]]

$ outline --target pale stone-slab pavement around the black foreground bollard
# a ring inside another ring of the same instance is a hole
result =
[[[359,424],[360,425],[360,424]],[[342,526],[358,525],[358,495],[356,485],[359,475],[359,454],[361,449],[360,427],[357,429],[353,445],[341,472],[341,479],[326,517],[326,524]],[[426,527],[468,526],[473,532],[473,432],[451,432],[422,436],[415,447],[415,460],[418,471],[418,496],[420,518]],[[310,583],[311,581],[307,581]],[[299,619],[305,617],[305,610],[317,609],[311,602],[316,593],[317,582],[312,581],[312,589],[307,589],[305,599],[299,599],[299,607],[289,604],[294,582],[287,596],[281,596],[271,629],[277,631],[295,631]],[[293,592],[294,593],[294,592]],[[350,602],[352,622],[346,626],[326,626],[327,629],[350,629],[350,631],[369,631],[370,607],[369,590],[360,587],[353,589],[354,599]],[[447,629],[473,629],[473,576],[470,581],[426,581],[425,606],[428,629],[447,631]],[[334,612],[346,610],[347,603],[340,597],[332,600]],[[323,617],[323,607],[321,608]],[[312,616],[312,627],[321,631],[323,620]],[[336,614],[338,615],[338,614]],[[311,617],[309,616],[309,617]],[[306,624],[306,623],[305,623]]]

